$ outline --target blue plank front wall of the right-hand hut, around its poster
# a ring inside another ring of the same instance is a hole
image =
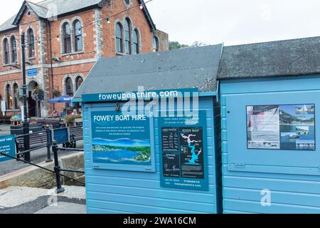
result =
[[[246,142],[242,142],[246,139],[245,105],[276,105],[284,101],[299,104],[303,101],[316,103],[316,142],[320,143],[320,76],[222,81],[220,93],[223,212],[320,213],[320,166],[315,166],[316,162],[320,165],[319,144],[313,152],[249,151]],[[234,121],[235,115],[238,123]],[[243,162],[253,157],[251,162],[265,162],[265,165],[245,164],[236,170],[230,164],[230,157],[235,153],[244,156]],[[312,164],[312,169],[307,168],[308,164]],[[261,190],[265,189],[271,191],[270,207],[261,204]]]

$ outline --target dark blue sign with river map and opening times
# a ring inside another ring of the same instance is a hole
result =
[[[206,112],[197,120],[160,118],[161,187],[208,191]]]

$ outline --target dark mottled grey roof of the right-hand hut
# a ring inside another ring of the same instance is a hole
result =
[[[320,73],[320,37],[225,46],[219,80]]]

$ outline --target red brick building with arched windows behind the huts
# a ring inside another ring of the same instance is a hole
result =
[[[100,57],[169,48],[168,34],[156,29],[143,0],[24,1],[18,14],[0,26],[0,95],[6,115],[20,113],[22,33],[30,117],[50,115],[48,99],[59,92],[73,95]],[[43,90],[44,99],[33,100],[35,88]],[[54,108],[61,111],[63,104]]]

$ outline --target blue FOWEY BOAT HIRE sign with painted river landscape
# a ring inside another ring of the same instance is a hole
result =
[[[151,166],[150,118],[116,111],[92,112],[93,163]]]

